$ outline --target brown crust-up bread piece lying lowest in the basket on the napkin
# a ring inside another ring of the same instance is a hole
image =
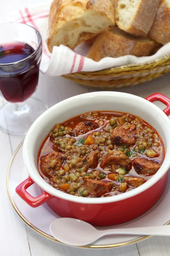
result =
[[[114,27],[96,38],[87,57],[100,61],[105,57],[117,58],[125,55],[148,56],[158,44],[149,38],[136,38]]]

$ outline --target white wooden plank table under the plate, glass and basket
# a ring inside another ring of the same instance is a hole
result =
[[[27,0],[1,0],[0,19],[6,19],[11,12],[28,6]],[[51,0],[50,0],[51,1]],[[29,5],[34,5],[29,0]],[[41,3],[37,0],[36,4]],[[2,36],[2,35],[0,35]],[[68,97],[93,91],[61,77],[51,78],[40,74],[38,89],[34,96],[48,106]],[[119,91],[146,97],[161,92],[170,97],[170,74],[133,88]],[[0,98],[0,106],[4,99]],[[164,108],[159,104],[160,108]],[[85,250],[70,248],[49,241],[35,233],[19,218],[12,208],[6,192],[6,170],[9,160],[23,137],[14,137],[0,131],[0,256],[170,256],[170,238],[153,237],[127,247],[108,250]]]

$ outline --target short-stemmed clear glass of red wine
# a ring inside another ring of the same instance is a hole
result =
[[[8,101],[0,108],[0,129],[26,134],[47,106],[35,92],[42,57],[40,33],[23,23],[0,24],[0,91]]]

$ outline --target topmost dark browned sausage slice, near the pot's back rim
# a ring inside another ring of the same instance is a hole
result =
[[[99,125],[95,122],[92,122],[92,121],[80,122],[78,125],[74,127],[70,135],[77,137],[78,135],[85,134],[88,131],[93,131],[96,128],[99,128]]]

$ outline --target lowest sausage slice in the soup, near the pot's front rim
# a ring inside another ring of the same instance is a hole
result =
[[[91,180],[85,179],[85,189],[92,195],[100,197],[107,193],[113,186],[113,183],[105,180]]]

